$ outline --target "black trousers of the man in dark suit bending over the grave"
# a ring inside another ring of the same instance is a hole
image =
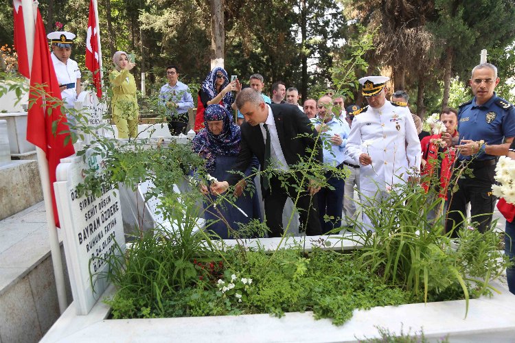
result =
[[[271,232],[268,237],[281,237],[284,233],[282,227],[282,211],[286,200],[291,198],[295,203],[297,199],[297,189],[295,189],[295,179],[292,177],[286,178],[286,182],[290,186],[282,187],[281,181],[273,176],[270,179],[270,189],[264,196],[264,213],[266,216],[266,225],[270,228]],[[306,185],[308,180],[306,179]],[[318,213],[318,200],[317,195],[310,196],[308,187],[304,187],[301,191],[301,196],[297,201],[297,209],[302,230],[306,231],[306,235],[315,236],[321,235],[321,227]]]

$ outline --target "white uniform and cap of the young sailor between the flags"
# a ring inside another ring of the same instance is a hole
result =
[[[57,44],[58,47],[71,48],[75,34],[66,31],[56,31],[47,34],[47,38],[52,44]],[[81,78],[80,69],[76,61],[69,58],[66,64],[62,63],[54,52],[51,54],[52,62],[54,62],[54,70],[56,71],[57,81],[59,85],[73,84],[73,87],[66,88],[61,92],[62,101],[65,103],[66,108],[74,108],[77,99],[77,79]]]

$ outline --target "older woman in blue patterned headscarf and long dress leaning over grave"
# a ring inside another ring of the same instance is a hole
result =
[[[205,159],[209,176],[225,180],[240,152],[240,127],[232,122],[229,111],[218,104],[207,106],[204,118],[205,128],[194,137],[193,151]],[[257,159],[245,172],[246,176],[252,174],[252,167],[258,168]],[[236,200],[228,199],[216,206],[213,205],[216,198],[209,194],[206,185],[201,185],[201,191],[207,197],[204,217],[206,221],[211,220],[209,230],[222,239],[233,237],[227,224],[232,230],[238,230],[238,223],[247,224],[252,218],[260,218],[258,197],[255,192],[251,196],[244,191],[244,184],[236,187]]]

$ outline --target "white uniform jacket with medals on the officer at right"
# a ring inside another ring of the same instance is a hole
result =
[[[372,164],[363,166],[359,156],[369,154]],[[408,179],[408,171],[420,168],[422,155],[420,141],[409,108],[393,106],[386,101],[381,108],[371,108],[354,117],[347,153],[361,165],[360,188],[368,191]],[[374,166],[374,167],[372,167]]]

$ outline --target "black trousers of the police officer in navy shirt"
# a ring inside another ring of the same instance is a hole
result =
[[[472,169],[474,177],[465,176],[458,180],[459,189],[448,195],[449,209],[446,232],[455,228],[452,237],[458,236],[466,218],[466,204],[470,202],[470,221],[479,223],[483,233],[490,228],[497,198],[492,194],[495,180],[495,165],[485,165]]]

